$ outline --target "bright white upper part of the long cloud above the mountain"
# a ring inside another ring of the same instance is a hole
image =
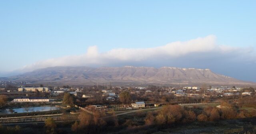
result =
[[[98,52],[97,46],[91,46],[83,55],[70,55],[38,61],[34,64],[26,65],[22,70],[32,71],[34,69],[55,66],[111,66],[114,63],[122,63],[125,65],[126,63],[132,62],[140,62],[141,65],[143,65],[144,61],[159,61],[160,59],[186,57],[186,55],[191,55],[193,53],[204,57],[206,53],[216,53],[218,55],[243,53],[247,55],[251,52],[252,48],[217,45],[216,37],[214,35],[208,35],[189,41],[176,41],[159,47],[118,48],[103,53]],[[214,58],[214,56],[212,58]],[[166,65],[163,64],[162,66]]]

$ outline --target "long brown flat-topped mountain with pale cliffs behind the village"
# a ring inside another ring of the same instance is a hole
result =
[[[116,85],[256,85],[213,73],[210,69],[177,67],[48,67],[6,79],[59,85],[102,85],[110,82]]]

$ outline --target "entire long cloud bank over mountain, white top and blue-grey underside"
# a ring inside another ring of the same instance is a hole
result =
[[[23,72],[56,66],[151,66],[151,67],[196,67],[210,68],[218,73],[244,79],[241,70],[256,67],[256,54],[253,47],[233,47],[218,45],[215,35],[198,37],[189,41],[176,41],[158,47],[117,48],[99,52],[97,46],[91,46],[82,55],[68,55],[38,61],[24,66]],[[250,75],[250,74],[248,74]],[[250,80],[252,76],[247,76]],[[253,81],[253,80],[252,80]]]

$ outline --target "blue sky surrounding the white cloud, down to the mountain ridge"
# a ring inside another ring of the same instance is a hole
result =
[[[230,59],[233,57],[232,54],[225,54],[222,55],[225,60],[219,61],[222,58],[216,59],[215,56],[211,56],[201,60],[205,62],[200,64],[196,63],[200,62],[198,57],[209,54],[194,57],[194,63],[190,64],[176,63],[180,58],[188,62],[186,59],[189,58],[186,56],[191,54],[188,52],[182,57],[168,57],[157,64],[150,64],[148,59],[134,62],[120,59],[120,62],[115,64],[86,64],[86,61],[81,61],[84,64],[74,63],[71,66],[129,64],[198,67],[210,68],[216,73],[238,79],[256,81],[251,75],[252,72],[234,74],[242,71],[242,65],[249,66],[248,68],[256,74],[255,24],[255,0],[0,1],[0,60],[3,63],[0,66],[0,73],[23,69],[34,63],[44,63],[48,59],[84,55],[88,52],[87,49],[94,45],[97,46],[98,53],[108,53],[120,48],[143,48],[144,51],[175,41],[190,41],[214,35],[216,46],[227,45],[246,51],[239,52],[242,56],[236,59]],[[248,52],[248,49],[251,51]],[[233,53],[238,53],[237,51],[232,49]],[[206,52],[213,53],[213,50]],[[113,58],[110,55],[108,59]],[[155,60],[159,61],[157,58]],[[209,60],[213,62],[209,64]],[[222,63],[223,67],[216,65],[218,63]],[[227,63],[239,67],[234,68],[226,65]],[[47,65],[42,67],[48,67]],[[30,70],[33,70],[33,67],[30,67]]]

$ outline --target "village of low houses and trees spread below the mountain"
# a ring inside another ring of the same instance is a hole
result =
[[[62,104],[64,94],[68,93],[74,97],[74,103],[82,107],[95,105],[97,109],[118,107],[117,109],[123,108],[123,110],[166,104],[219,102],[223,97],[237,101],[241,96],[254,94],[253,88],[235,86],[157,87],[150,85],[148,87],[118,87],[111,86],[111,83],[109,86],[95,85],[91,87],[43,87],[40,85],[39,87],[13,87],[11,90],[2,87],[0,91],[3,94],[8,92],[6,96],[10,104],[17,102]],[[124,95],[121,93],[127,93],[126,99],[123,99]],[[141,103],[142,105],[140,105]]]

